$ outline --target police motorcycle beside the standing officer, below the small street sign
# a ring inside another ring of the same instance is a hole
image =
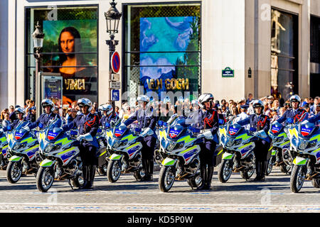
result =
[[[238,123],[232,123],[233,118],[225,127],[219,128],[220,143],[224,150],[218,170],[218,179],[222,183],[227,182],[233,172],[240,172],[245,180],[250,179],[255,172],[254,141],[257,138],[267,139],[265,131],[256,132],[255,128],[245,130]]]

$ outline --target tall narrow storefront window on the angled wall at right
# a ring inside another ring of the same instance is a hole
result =
[[[272,9],[271,94],[287,100],[298,93],[298,16]]]

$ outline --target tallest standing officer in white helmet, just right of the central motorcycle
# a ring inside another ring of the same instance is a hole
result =
[[[193,113],[193,127],[204,130],[206,137],[203,138],[201,144],[200,158],[200,171],[202,184],[198,187],[199,190],[211,189],[211,181],[213,176],[213,167],[215,166],[215,147],[218,143],[218,129],[219,129],[219,116],[218,111],[214,109],[213,94],[201,94],[198,99],[199,109]]]

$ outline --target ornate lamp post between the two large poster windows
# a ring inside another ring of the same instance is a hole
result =
[[[118,45],[119,40],[114,40],[114,34],[118,33],[119,21],[122,16],[122,13],[119,13],[117,5],[114,0],[110,2],[110,9],[105,12],[105,19],[107,22],[107,33],[110,35],[110,40],[106,40],[107,45],[109,45],[109,104],[112,104],[112,108],[114,111],[114,101],[111,98],[112,88],[110,87],[110,82],[112,81],[112,67],[111,67],[111,57],[113,52],[115,51],[116,45]]]

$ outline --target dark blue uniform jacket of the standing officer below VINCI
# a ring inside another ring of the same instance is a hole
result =
[[[77,115],[72,122],[63,126],[64,131],[69,131],[73,128],[77,128],[80,135],[90,133],[92,136],[93,140],[84,140],[83,145],[93,145],[96,148],[99,148],[99,143],[97,143],[97,138],[95,137],[97,134],[97,129],[99,128],[99,116],[97,116],[97,114],[89,113],[87,115]]]

